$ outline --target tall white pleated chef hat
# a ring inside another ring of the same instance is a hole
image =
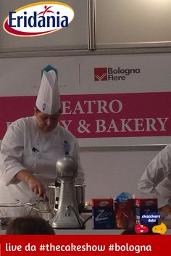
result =
[[[48,65],[42,70],[42,73],[36,107],[47,115],[54,115],[60,110],[57,70],[51,65]]]

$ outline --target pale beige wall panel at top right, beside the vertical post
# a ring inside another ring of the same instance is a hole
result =
[[[97,0],[97,47],[169,42],[170,5],[168,0]]]

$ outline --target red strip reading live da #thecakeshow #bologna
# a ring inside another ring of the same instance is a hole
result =
[[[163,255],[171,236],[49,235],[0,237],[1,256]]]

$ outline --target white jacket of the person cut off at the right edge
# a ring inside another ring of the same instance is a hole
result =
[[[158,207],[171,205],[171,144],[149,163],[138,182],[143,197],[156,197]]]

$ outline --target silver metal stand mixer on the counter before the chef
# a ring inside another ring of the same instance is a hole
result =
[[[84,228],[78,212],[75,194],[75,176],[78,165],[73,157],[65,155],[57,161],[57,178],[61,183],[58,210],[50,220],[53,228]]]

